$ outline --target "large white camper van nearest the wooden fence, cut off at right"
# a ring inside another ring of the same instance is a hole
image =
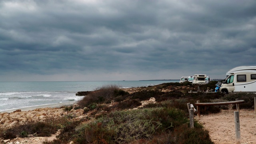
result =
[[[220,86],[220,92],[255,92],[256,66],[238,66],[227,72],[227,78]]]

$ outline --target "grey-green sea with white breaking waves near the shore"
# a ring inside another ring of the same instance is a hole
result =
[[[154,86],[179,80],[85,81],[85,82],[0,82],[0,111],[47,104],[74,103],[83,96],[77,92],[93,91],[108,84],[120,88]]]

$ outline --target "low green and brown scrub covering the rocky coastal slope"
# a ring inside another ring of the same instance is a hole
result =
[[[200,86],[200,90],[214,89],[216,82]],[[168,90],[168,91],[164,91]],[[253,108],[255,94],[193,93],[197,86],[190,83],[165,83],[141,88],[128,93],[116,85],[103,86],[90,92],[78,102],[86,119],[74,120],[73,116],[46,119],[44,122],[28,122],[12,128],[1,129],[0,137],[12,139],[49,136],[57,130],[60,135],[44,144],[213,144],[209,132],[195,121],[194,129],[189,128],[187,103],[245,100],[240,108]],[[141,101],[156,99],[156,103],[143,108]],[[133,108],[136,108],[132,110]],[[208,106],[200,109],[202,114],[218,113],[228,106]],[[72,110],[72,106],[63,108]]]

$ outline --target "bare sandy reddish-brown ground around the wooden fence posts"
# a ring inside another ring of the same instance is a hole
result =
[[[218,114],[201,115],[201,122],[210,132],[214,144],[236,144],[235,110],[222,110]],[[241,144],[256,144],[256,114],[254,110],[240,110]]]

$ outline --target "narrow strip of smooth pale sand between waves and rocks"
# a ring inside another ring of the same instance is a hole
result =
[[[30,106],[30,107],[25,107],[25,108],[14,108],[14,109],[10,109],[10,110],[2,110],[0,111],[0,113],[11,113],[14,112],[15,110],[21,110],[21,111],[29,111],[29,110],[35,110],[37,108],[58,108],[61,106],[68,106],[68,105],[72,105],[75,104],[77,101],[70,101],[70,102],[62,102],[62,103],[58,103],[58,104],[45,104],[45,105],[39,105],[39,106]]]

